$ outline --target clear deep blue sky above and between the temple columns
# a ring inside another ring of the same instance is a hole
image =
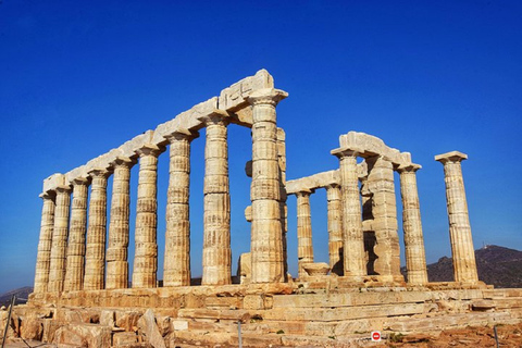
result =
[[[33,284],[45,177],[260,69],[289,92],[277,108],[288,178],[336,169],[330,150],[349,130],[410,151],[423,166],[418,182],[434,262],[450,249],[443,166],[433,157],[459,150],[469,154],[463,174],[475,247],[522,249],[521,18],[520,1],[1,1],[0,293]],[[192,142],[194,275],[203,139]],[[249,129],[231,125],[229,139],[235,265],[250,240],[243,212]],[[162,254],[165,153],[159,171]],[[318,261],[327,261],[325,199],[318,190],[311,201]],[[290,197],[294,271],[295,204]]]

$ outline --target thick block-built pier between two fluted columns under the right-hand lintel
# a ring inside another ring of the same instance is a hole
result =
[[[365,159],[368,179],[372,192],[373,231],[376,256],[373,270],[382,281],[403,281],[400,274],[400,246],[397,234],[397,202],[394,185],[394,166],[380,156]]]

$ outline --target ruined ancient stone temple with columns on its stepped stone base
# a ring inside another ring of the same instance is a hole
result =
[[[148,341],[150,325],[136,324],[147,309],[159,326],[151,330],[159,330],[170,347],[198,340],[237,345],[240,338],[259,346],[343,345],[366,339],[372,331],[437,331],[522,320],[520,306],[513,310],[500,300],[519,299],[520,291],[494,290],[478,281],[461,172],[464,153],[435,157],[444,164],[455,282],[430,283],[415,178],[421,166],[409,152],[349,132],[331,151],[338,169],[287,181],[285,133],[276,119],[276,105],[287,96],[274,87],[266,71],[259,71],[85,165],[45,179],[35,289],[24,309],[27,316],[38,318],[39,338],[66,344],[65,332],[90,325],[104,339],[101,346]],[[252,159],[246,165],[251,206],[245,207],[251,244],[240,258],[238,276],[232,274],[231,251],[227,127],[233,125],[249,127],[252,140]],[[202,128],[206,139],[197,139]],[[200,285],[191,282],[189,262],[195,140],[206,141]],[[157,189],[160,160],[170,163],[166,192]],[[138,195],[130,201],[134,165],[139,166]],[[113,186],[108,189],[111,175]],[[406,281],[400,272],[397,186]],[[327,195],[330,264],[314,262],[310,195],[318,189]],[[158,195],[167,196],[165,217],[158,216]],[[287,260],[288,195],[297,197],[294,275],[288,274]],[[130,204],[137,207],[134,240]],[[158,231],[158,219],[166,219],[165,231]],[[157,236],[163,233],[161,256]],[[135,245],[132,274],[129,244]],[[158,270],[158,258],[164,260],[163,270]],[[92,321],[96,313],[98,322]],[[129,318],[135,322],[129,324]],[[163,320],[166,328],[160,324]],[[243,336],[237,322],[244,323]],[[98,345],[89,337],[84,339]]]

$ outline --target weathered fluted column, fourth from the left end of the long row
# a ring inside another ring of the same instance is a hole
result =
[[[99,290],[104,287],[105,235],[107,235],[107,178],[105,169],[90,171],[92,178],[89,199],[89,226],[85,251],[84,290]]]

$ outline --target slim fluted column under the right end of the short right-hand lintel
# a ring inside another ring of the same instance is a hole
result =
[[[426,256],[422,235],[421,208],[417,189],[419,164],[399,166],[400,195],[402,197],[402,228],[405,229],[406,272],[409,284],[426,284]]]

